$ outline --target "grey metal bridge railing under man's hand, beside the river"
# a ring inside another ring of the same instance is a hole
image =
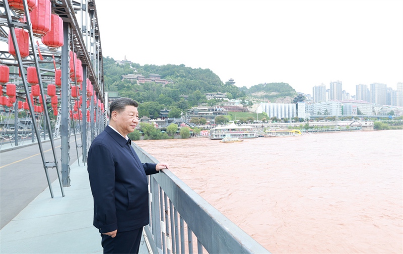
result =
[[[158,163],[133,148],[143,163]],[[149,176],[149,192],[153,253],[270,253],[168,169]]]

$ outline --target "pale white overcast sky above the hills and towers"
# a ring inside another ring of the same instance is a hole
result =
[[[403,82],[402,0],[95,0],[104,56],[297,92]]]

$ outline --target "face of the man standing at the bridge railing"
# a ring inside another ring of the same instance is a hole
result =
[[[120,113],[116,112],[115,117],[117,131],[123,136],[135,131],[140,121],[139,111],[135,106],[126,106]]]

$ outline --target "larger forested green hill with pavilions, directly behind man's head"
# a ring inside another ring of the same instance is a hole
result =
[[[209,69],[192,69],[184,65],[144,65],[125,63],[118,65],[113,58],[104,57],[104,83],[106,91],[118,91],[119,96],[130,97],[137,101],[158,101],[160,97],[170,98],[165,101],[179,101],[180,95],[192,97],[193,93],[230,93],[232,98],[241,98],[245,94],[233,84],[224,84],[220,78]],[[158,74],[161,79],[172,81],[165,86],[156,83],[136,84],[136,82],[122,80],[122,75],[141,74],[148,78],[150,74]],[[197,97],[196,96],[196,97]],[[190,98],[191,101],[192,98]],[[162,100],[163,101],[163,100]]]

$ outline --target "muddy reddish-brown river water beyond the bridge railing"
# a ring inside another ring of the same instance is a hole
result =
[[[272,253],[403,253],[403,131],[136,141]]]

